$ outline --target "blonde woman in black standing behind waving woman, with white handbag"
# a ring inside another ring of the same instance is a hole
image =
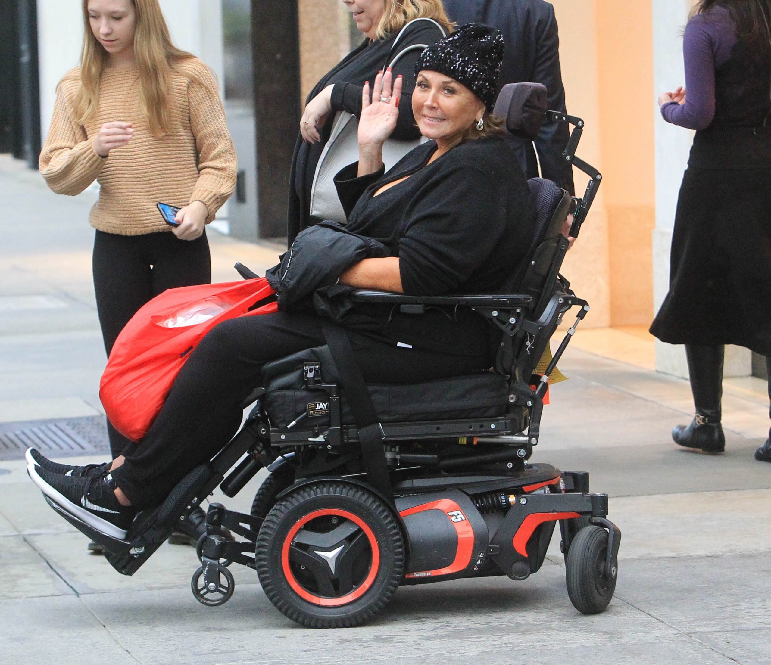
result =
[[[321,221],[311,217],[311,189],[318,160],[332,133],[335,113],[347,111],[358,118],[362,113],[362,86],[366,81],[374,81],[378,72],[387,68],[404,49],[434,44],[442,39],[443,31],[449,33],[452,30],[441,0],[342,2],[366,39],[335,65],[308,95],[289,179],[287,235],[290,244],[301,230]],[[412,23],[395,43],[399,32],[417,18],[430,18],[431,21]],[[419,49],[407,52],[393,70],[393,76],[404,76],[406,80],[402,92],[405,103],[399,107],[399,122],[393,133],[395,139],[410,140],[420,136],[409,103],[414,86],[412,74],[419,55]]]

